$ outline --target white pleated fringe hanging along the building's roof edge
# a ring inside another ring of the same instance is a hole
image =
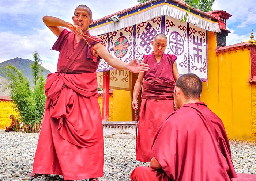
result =
[[[178,4],[172,5],[166,2],[167,1],[156,5],[150,4],[147,8],[127,12],[127,14],[120,16],[120,22],[117,23],[113,23],[111,20],[106,20],[105,22],[94,24],[89,28],[90,34],[93,36],[98,36],[108,32],[114,32],[163,15],[183,19],[186,10],[180,8]],[[212,21],[209,17],[202,17],[200,14],[196,15],[189,13],[187,22],[207,31],[220,32],[218,22]]]

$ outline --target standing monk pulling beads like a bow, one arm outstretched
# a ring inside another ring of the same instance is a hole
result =
[[[114,58],[102,41],[89,34],[92,12],[79,5],[74,25],[56,17],[43,22],[58,37],[52,47],[60,52],[57,72],[48,74],[45,114],[34,158],[33,172],[63,175],[64,180],[103,176],[103,128],[97,96],[96,69],[103,58],[110,66],[132,72],[147,71],[137,59],[125,63]],[[65,28],[69,28],[68,31]],[[86,36],[82,39],[82,35]]]

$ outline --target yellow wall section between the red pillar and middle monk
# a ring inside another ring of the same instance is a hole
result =
[[[113,97],[113,121],[131,121],[131,92],[114,90]]]

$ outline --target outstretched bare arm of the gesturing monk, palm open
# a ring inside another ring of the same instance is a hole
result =
[[[149,65],[144,63],[138,63],[138,59],[133,59],[130,63],[125,63],[121,61],[118,58],[113,57],[106,49],[105,46],[103,46],[100,43],[97,43],[94,45],[94,49],[96,50],[95,56],[99,55],[101,58],[103,58],[106,62],[109,63],[110,66],[121,69],[121,70],[129,70],[131,72],[144,72],[149,69]]]

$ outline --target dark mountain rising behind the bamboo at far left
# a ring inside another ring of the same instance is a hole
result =
[[[33,82],[33,75],[32,75],[32,68],[31,68],[31,64],[33,64],[34,61],[29,60],[29,59],[23,59],[23,58],[14,58],[14,59],[10,59],[7,61],[4,61],[2,63],[0,63],[0,94],[2,94],[1,92],[3,92],[4,90],[2,90],[2,88],[4,88],[4,83],[6,82],[5,79],[8,79],[8,77],[5,75],[5,73],[3,72],[2,67],[3,66],[7,66],[8,64],[11,64],[13,66],[15,66],[18,70],[20,70],[20,72],[23,73],[23,75],[25,77],[28,78],[31,88],[34,86],[34,82]],[[51,73],[49,70],[43,68],[43,75],[46,78],[48,73]],[[3,82],[3,83],[2,83]],[[3,84],[3,85],[2,85]]]

